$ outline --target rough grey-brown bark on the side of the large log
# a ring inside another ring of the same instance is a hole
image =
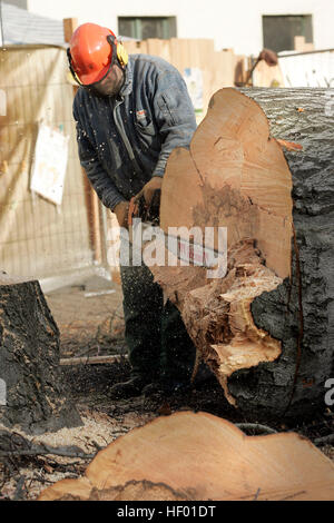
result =
[[[289,416],[307,416],[326,406],[324,384],[334,375],[333,118],[325,89],[247,93],[269,118],[272,135],[297,141],[303,151],[285,151],[293,179],[292,278],[252,304],[258,327],[281,341],[282,356],[276,365],[240,372],[229,387],[243,408],[283,414],[291,403]],[[268,402],[257,406],[257,391],[261,397],[269,391]]]

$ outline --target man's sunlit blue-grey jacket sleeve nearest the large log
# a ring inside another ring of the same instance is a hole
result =
[[[154,105],[164,144],[153,176],[163,177],[173,149],[188,148],[197,128],[186,82],[177,70],[170,69],[159,76]]]

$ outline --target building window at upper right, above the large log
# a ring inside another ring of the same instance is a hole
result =
[[[275,52],[294,50],[294,38],[305,37],[313,42],[312,14],[265,16],[263,18],[264,47]]]

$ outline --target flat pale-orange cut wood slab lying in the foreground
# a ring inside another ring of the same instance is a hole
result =
[[[297,434],[246,436],[205,413],[157,418],[101,451],[53,500],[333,500],[334,466]]]

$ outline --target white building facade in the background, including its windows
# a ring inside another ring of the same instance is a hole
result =
[[[333,0],[7,0],[28,11],[61,20],[78,18],[136,38],[208,38],[216,50],[256,55],[263,47],[292,50],[304,36],[314,49],[334,48]]]

